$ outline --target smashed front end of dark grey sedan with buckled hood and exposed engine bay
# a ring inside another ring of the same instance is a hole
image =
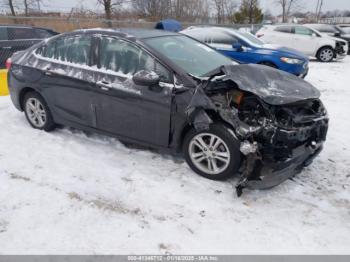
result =
[[[252,65],[246,66],[252,73]],[[187,113],[198,130],[208,128],[219,116],[234,131],[244,156],[236,185],[240,196],[244,188],[274,187],[310,165],[322,150],[329,120],[317,89],[307,82],[300,80],[301,84],[289,86],[299,79],[283,73],[286,79],[281,79],[281,84],[285,89],[274,86],[268,92],[263,81],[250,81],[242,74],[237,77],[234,70],[234,66],[222,67],[202,81]],[[276,73],[274,69],[255,67],[255,70],[260,71],[255,77],[259,73]],[[288,81],[290,77],[292,81]],[[239,84],[249,81],[258,85],[257,91]]]

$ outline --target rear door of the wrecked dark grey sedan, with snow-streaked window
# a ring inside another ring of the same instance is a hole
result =
[[[59,123],[69,122],[96,127],[95,108],[91,100],[94,72],[91,65],[92,37],[70,35],[53,39],[41,54],[43,77],[39,87]]]

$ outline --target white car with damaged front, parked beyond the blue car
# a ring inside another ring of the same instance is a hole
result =
[[[256,35],[266,43],[295,48],[321,62],[343,59],[349,48],[342,39],[325,36],[315,29],[297,24],[263,26]]]

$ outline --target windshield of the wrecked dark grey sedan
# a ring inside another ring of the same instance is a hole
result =
[[[212,48],[186,36],[163,36],[144,40],[187,73],[200,77],[214,69],[236,64]]]

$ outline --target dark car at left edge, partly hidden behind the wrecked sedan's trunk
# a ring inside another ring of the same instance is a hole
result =
[[[0,69],[5,68],[7,58],[13,53],[57,34],[51,29],[41,27],[0,25]]]

